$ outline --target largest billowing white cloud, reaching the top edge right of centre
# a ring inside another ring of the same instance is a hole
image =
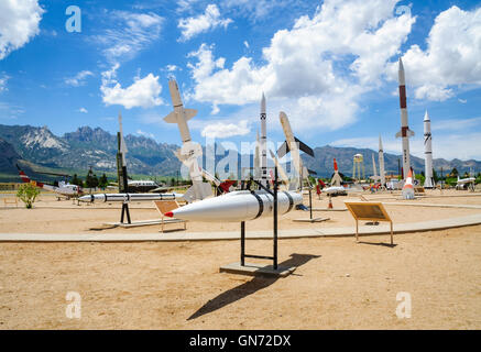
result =
[[[294,112],[295,123],[302,119],[300,129],[352,123],[361,94],[378,87],[415,22],[409,13],[394,16],[397,2],[326,0],[311,18],[274,34],[263,65],[242,56],[225,68],[226,59],[203,44],[188,55],[197,61],[188,64],[196,84],[189,97],[218,111],[219,105],[256,102],[265,91]]]

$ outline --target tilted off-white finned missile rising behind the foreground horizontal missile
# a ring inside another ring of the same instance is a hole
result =
[[[178,160],[188,168],[193,186],[185,193],[184,198],[192,202],[194,200],[205,199],[212,195],[212,187],[209,183],[203,182],[203,175],[206,175],[198,164],[198,157],[203,155],[200,144],[193,142],[188,130],[187,121],[197,114],[195,109],[185,109],[181,99],[177,82],[174,79],[168,81],[172,105],[174,111],[164,118],[167,123],[176,123],[181,132],[182,147],[175,153]]]

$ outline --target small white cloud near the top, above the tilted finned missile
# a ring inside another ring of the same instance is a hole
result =
[[[221,19],[219,8],[211,3],[207,6],[204,14],[199,14],[195,18],[181,19],[178,21],[178,28],[182,31],[179,41],[188,41],[199,33],[214,30],[218,26],[223,26],[226,29],[231,22],[231,19]]]

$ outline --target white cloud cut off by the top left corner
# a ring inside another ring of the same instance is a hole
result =
[[[44,12],[37,0],[0,1],[0,59],[40,33]]]

